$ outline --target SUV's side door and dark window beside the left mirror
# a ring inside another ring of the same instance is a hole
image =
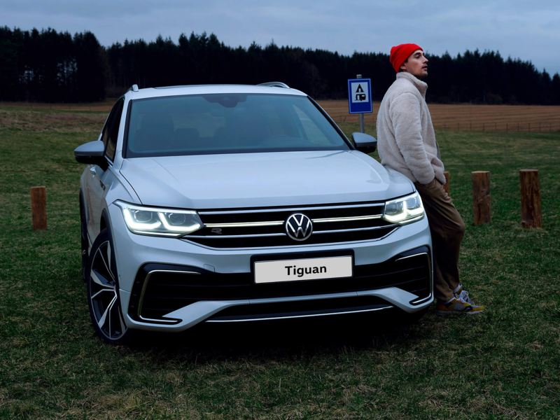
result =
[[[87,229],[92,240],[99,235],[99,222],[101,221],[101,214],[105,205],[105,195],[114,179],[113,160],[115,159],[118,129],[120,119],[123,116],[124,102],[123,98],[116,102],[103,127],[101,140],[105,145],[106,164],[103,167],[90,165],[88,169],[90,175],[87,180],[86,195],[90,217],[87,221]]]

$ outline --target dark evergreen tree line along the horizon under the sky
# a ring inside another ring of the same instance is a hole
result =
[[[560,104],[560,76],[499,52],[430,55],[428,100],[479,104]],[[159,36],[99,44],[89,31],[71,36],[55,29],[0,27],[0,100],[94,102],[139,87],[279,80],[316,99],[347,97],[346,79],[372,79],[381,99],[395,78],[388,55],[279,47],[232,48],[214,34]]]

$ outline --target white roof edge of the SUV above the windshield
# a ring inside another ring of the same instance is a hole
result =
[[[290,87],[267,85],[185,85],[146,87],[144,89],[137,89],[137,87],[135,89],[134,87],[128,90],[125,96],[130,97],[130,99],[213,93],[291,94],[297,96],[307,96],[300,90],[292,89]]]

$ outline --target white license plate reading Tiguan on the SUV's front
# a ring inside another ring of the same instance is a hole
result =
[[[255,262],[255,283],[338,279],[351,276],[351,256]]]

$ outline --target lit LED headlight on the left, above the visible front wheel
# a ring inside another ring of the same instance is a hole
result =
[[[158,209],[116,202],[130,232],[139,235],[180,237],[199,230],[204,225],[196,211]]]

